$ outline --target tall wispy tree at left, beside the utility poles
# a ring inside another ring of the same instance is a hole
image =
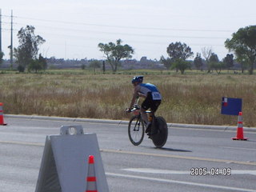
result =
[[[34,26],[26,26],[18,31],[18,48],[14,48],[14,57],[19,68],[26,69],[26,65],[33,63],[32,60],[37,58],[38,46],[46,42],[41,36],[34,34]]]

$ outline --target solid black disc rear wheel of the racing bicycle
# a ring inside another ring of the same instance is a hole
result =
[[[168,138],[168,127],[166,120],[162,117],[155,118],[155,123],[158,126],[158,134],[152,135],[154,146],[161,148],[166,144]]]

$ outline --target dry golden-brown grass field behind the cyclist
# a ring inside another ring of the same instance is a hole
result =
[[[5,114],[128,119],[133,74],[0,74]],[[231,125],[220,114],[222,97],[243,99],[244,126],[256,126],[256,76],[242,74],[148,74],[163,101],[157,112],[167,122]]]

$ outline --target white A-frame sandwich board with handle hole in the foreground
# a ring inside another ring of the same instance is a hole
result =
[[[109,192],[96,134],[84,134],[82,126],[62,126],[60,135],[46,137],[35,192],[86,191],[90,155],[98,192]]]

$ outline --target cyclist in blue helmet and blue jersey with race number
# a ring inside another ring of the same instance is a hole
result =
[[[154,114],[158,110],[158,106],[161,104],[162,95],[158,91],[158,88],[151,83],[142,83],[143,76],[135,76],[132,79],[132,84],[134,85],[134,95],[130,102],[129,111],[133,108],[136,98],[142,97],[145,100],[142,102],[141,114],[142,119],[146,122],[146,133],[149,133],[150,123],[148,121],[146,110],[150,108],[151,112]],[[150,114],[152,116],[152,114]]]

